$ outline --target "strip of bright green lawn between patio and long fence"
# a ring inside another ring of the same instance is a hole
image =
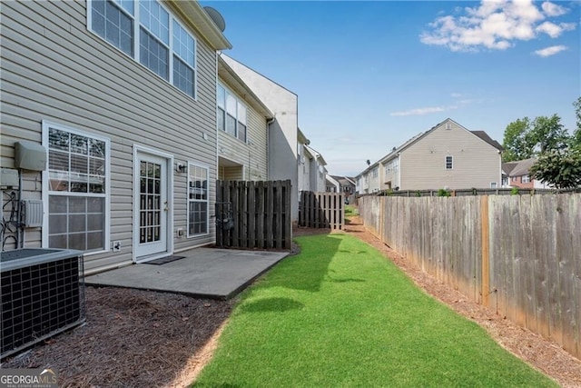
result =
[[[199,387],[557,386],[345,234],[296,239],[241,295]]]

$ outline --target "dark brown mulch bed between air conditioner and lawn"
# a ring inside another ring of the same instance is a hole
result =
[[[113,287],[87,287],[86,301],[83,326],[2,367],[52,367],[59,373],[59,387],[172,386],[186,366],[206,361],[200,352],[233,305]]]

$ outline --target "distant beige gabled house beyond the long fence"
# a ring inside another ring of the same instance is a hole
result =
[[[360,173],[359,194],[383,190],[496,188],[503,148],[451,119],[409,139]]]

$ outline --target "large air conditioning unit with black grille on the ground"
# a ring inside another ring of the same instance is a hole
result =
[[[84,322],[81,252],[18,249],[3,252],[0,261],[0,358]]]

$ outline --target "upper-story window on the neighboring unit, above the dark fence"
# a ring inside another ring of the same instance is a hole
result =
[[[216,98],[218,129],[246,143],[246,106],[222,85],[218,85]]]

